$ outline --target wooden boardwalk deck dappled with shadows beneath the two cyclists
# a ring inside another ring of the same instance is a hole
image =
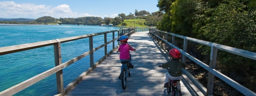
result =
[[[137,51],[131,52],[134,69],[128,78],[126,89],[122,89],[118,76],[121,71],[119,53],[110,54],[66,96],[70,95],[171,95],[165,83],[166,69],[159,68],[169,59],[156,42],[148,35],[149,31],[133,34],[129,44]],[[116,51],[115,51],[116,52]],[[203,95],[203,93],[183,74],[182,95]]]

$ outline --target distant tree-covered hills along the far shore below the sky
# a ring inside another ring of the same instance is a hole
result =
[[[136,16],[134,16],[134,14]],[[124,20],[131,20],[131,19],[140,19],[138,22],[133,22],[133,24],[136,24],[136,26],[156,26],[156,23],[158,21],[161,21],[163,19],[161,12],[153,12],[150,14],[150,12],[146,10],[138,11],[135,9],[134,14],[130,12],[130,14],[125,15],[124,13],[118,14],[118,17],[115,18],[109,18],[105,17],[102,19],[101,17],[79,17],[79,18],[59,18],[55,19],[50,16],[44,16],[41,18],[38,18],[36,20],[30,20],[30,19],[2,19],[0,18],[0,23],[5,24],[85,24],[85,25],[101,25],[101,24],[113,24],[114,26],[125,26],[125,27],[131,27],[131,24],[125,24]],[[141,21],[143,20],[143,21]],[[146,22],[144,21],[146,20]],[[137,21],[137,20],[136,20]],[[123,23],[123,24],[122,24]],[[129,26],[128,26],[129,25]]]

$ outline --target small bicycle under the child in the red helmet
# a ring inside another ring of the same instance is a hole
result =
[[[162,67],[159,65],[159,67]],[[167,71],[169,70],[166,68]],[[177,82],[180,82],[180,79],[171,79],[169,83],[165,83],[165,87],[167,88],[167,92],[172,92],[172,95],[180,96],[181,93],[179,92],[179,89],[176,87]]]

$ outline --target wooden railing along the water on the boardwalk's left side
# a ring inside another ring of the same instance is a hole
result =
[[[64,95],[68,91],[70,91],[79,81],[81,81],[87,74],[89,74],[95,67],[97,67],[107,56],[109,56],[113,51],[115,51],[117,49],[119,42],[118,42],[118,45],[115,47],[115,40],[118,39],[118,37],[120,36],[120,33],[130,37],[131,34],[134,33],[134,30],[145,31],[145,30],[149,30],[149,28],[142,28],[142,29],[126,28],[126,29],[121,29],[121,30],[111,30],[111,31],[105,31],[102,33],[94,33],[94,34],[89,34],[89,35],[74,36],[74,37],[48,40],[48,41],[42,41],[42,42],[0,47],[0,55],[5,55],[5,54],[17,53],[17,52],[31,50],[31,49],[37,49],[37,48],[44,47],[44,46],[54,45],[54,57],[55,57],[55,67],[54,68],[47,70],[41,74],[38,74],[34,77],[31,77],[22,83],[12,86],[12,87],[0,92],[0,95],[13,95],[13,94],[33,85],[35,83],[41,81],[43,78],[48,77],[54,73],[56,73],[57,90],[59,93],[57,95]],[[116,32],[118,33],[118,37],[115,38]],[[107,34],[109,34],[109,33],[113,34],[112,35],[113,40],[107,42]],[[104,35],[104,44],[93,49],[93,43],[92,43],[93,36],[98,36],[98,35]],[[74,41],[74,40],[78,40],[78,39],[84,39],[84,38],[89,38],[89,51],[62,63],[61,62],[61,43],[70,42],[70,41]],[[107,53],[107,44],[109,44],[111,42],[113,42],[113,50],[111,50]],[[100,60],[93,63],[93,52],[101,49],[103,46],[105,47],[105,51],[104,51],[105,55]],[[79,75],[76,79],[74,79],[73,82],[68,84],[66,87],[63,87],[62,70],[64,68],[72,65],[72,63],[78,61],[79,59],[84,58],[87,55],[90,55],[90,68],[88,70],[86,70],[85,72],[83,72],[81,75]]]

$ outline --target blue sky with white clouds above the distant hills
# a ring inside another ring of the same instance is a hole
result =
[[[157,0],[0,0],[0,18],[105,17],[129,15],[137,11],[158,11]]]

